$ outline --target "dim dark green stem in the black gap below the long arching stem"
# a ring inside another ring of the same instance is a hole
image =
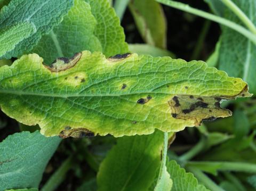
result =
[[[204,39],[205,39],[205,37],[207,35],[207,32],[210,29],[210,26],[211,26],[211,21],[206,20],[204,22],[203,29],[200,32],[199,38],[198,38],[197,43],[196,43],[196,47],[194,49],[194,52],[193,52],[190,60],[197,60],[198,59],[198,56],[199,56],[199,54],[200,54],[200,52],[201,52],[201,50],[203,48]]]

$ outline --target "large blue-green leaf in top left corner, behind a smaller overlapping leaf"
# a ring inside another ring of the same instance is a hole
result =
[[[73,0],[46,0],[44,2],[41,0],[12,0],[7,6],[4,6],[0,12],[1,31],[17,23],[30,22],[34,24],[36,32],[21,40],[3,58],[10,59],[10,57],[18,57],[24,52],[31,51],[42,35],[49,33],[54,26],[62,21],[63,15],[68,12],[72,5]]]

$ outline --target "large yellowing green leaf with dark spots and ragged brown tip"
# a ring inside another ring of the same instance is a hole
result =
[[[24,55],[0,68],[0,85],[7,115],[63,138],[180,131],[230,116],[221,99],[250,96],[244,81],[202,61],[89,51],[50,67]]]

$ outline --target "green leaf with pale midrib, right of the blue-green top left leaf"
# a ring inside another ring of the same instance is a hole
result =
[[[42,56],[46,64],[85,49],[102,52],[101,43],[94,35],[96,25],[90,5],[84,0],[76,0],[63,21],[41,38],[33,52]]]

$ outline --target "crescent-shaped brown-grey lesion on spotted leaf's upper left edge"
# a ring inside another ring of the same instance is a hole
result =
[[[81,59],[82,53],[76,53],[71,58],[60,57],[56,59],[50,66],[44,65],[45,68],[49,69],[51,72],[65,71],[72,68]]]

